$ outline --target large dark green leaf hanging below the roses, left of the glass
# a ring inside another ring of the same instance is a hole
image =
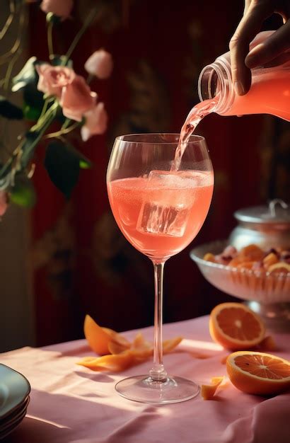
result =
[[[71,196],[79,179],[79,157],[62,142],[47,146],[45,168],[52,183],[66,196]]]

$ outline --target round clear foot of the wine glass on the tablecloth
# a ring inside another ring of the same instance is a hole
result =
[[[162,405],[190,400],[199,393],[199,386],[182,377],[166,377],[153,381],[150,376],[139,375],[119,381],[115,389],[120,396],[139,403]]]

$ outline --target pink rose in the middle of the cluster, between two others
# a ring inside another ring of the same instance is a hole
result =
[[[97,94],[92,92],[82,76],[75,76],[74,80],[62,88],[59,104],[62,113],[72,120],[81,122],[83,114],[95,106]]]

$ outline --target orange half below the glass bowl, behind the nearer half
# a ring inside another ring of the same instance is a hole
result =
[[[240,303],[221,303],[209,317],[211,338],[226,349],[243,350],[256,346],[265,336],[260,316]]]

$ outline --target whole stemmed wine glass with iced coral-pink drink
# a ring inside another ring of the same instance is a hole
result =
[[[199,393],[197,384],[168,376],[163,366],[163,267],[201,229],[214,186],[204,137],[192,135],[177,162],[178,139],[179,134],[122,135],[115,139],[108,164],[108,196],[117,225],[154,267],[153,367],[148,375],[115,386],[120,395],[141,403],[178,403]]]

